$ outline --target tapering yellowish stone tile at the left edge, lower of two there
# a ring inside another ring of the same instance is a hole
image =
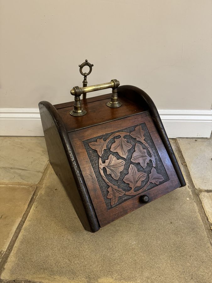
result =
[[[30,202],[33,187],[0,186],[0,258]]]

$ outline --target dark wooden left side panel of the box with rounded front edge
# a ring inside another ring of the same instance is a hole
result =
[[[84,229],[96,232],[100,227],[63,122],[50,103],[41,102],[39,108],[50,163],[68,192]]]

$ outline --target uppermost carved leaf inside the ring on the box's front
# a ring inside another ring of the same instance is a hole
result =
[[[128,150],[132,147],[131,143],[128,143],[124,136],[129,135],[127,132],[116,133],[116,136],[121,136],[115,139],[115,142],[111,145],[111,151],[117,152],[120,156],[126,158]]]

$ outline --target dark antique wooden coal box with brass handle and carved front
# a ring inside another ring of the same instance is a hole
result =
[[[112,88],[92,98],[86,92]],[[151,98],[119,81],[74,87],[74,102],[39,103],[49,159],[85,230],[142,207],[185,180]]]

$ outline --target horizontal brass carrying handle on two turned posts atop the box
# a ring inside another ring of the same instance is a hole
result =
[[[108,83],[104,83],[100,85],[84,86],[84,87],[74,86],[70,90],[70,93],[74,95],[73,110],[70,112],[70,114],[73,116],[82,116],[86,114],[86,110],[82,108],[82,104],[80,101],[81,94],[87,93],[87,92],[95,92],[95,91],[99,91],[99,90],[107,89],[107,88],[112,88],[111,101],[107,103],[107,106],[112,107],[112,108],[120,107],[122,103],[118,101],[118,96],[117,96],[117,87],[119,85],[120,85],[120,82],[114,79]]]

